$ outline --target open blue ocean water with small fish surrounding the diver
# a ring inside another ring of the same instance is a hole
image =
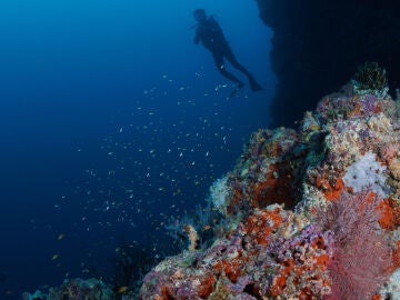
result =
[[[193,43],[197,8],[263,91],[227,99]],[[122,241],[171,250],[168,218],[203,203],[270,121],[272,32],[258,13],[249,0],[0,2],[0,299],[107,281]]]

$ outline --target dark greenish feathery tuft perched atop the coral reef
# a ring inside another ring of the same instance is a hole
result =
[[[358,94],[370,93],[383,98],[389,90],[386,70],[380,68],[378,62],[366,62],[359,66],[352,83]]]

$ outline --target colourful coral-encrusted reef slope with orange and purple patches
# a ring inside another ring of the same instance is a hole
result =
[[[223,234],[160,262],[140,299],[393,299],[399,110],[354,84],[323,97],[297,131],[253,133],[212,189]]]

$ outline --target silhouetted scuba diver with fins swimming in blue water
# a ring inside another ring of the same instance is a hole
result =
[[[198,21],[196,26],[197,29],[194,43],[198,44],[199,42],[201,42],[204,48],[210,50],[220,73],[237,84],[237,88],[231,96],[233,96],[237,91],[243,88],[244,83],[240,81],[236,76],[227,71],[223,64],[223,59],[228,60],[230,64],[232,64],[232,67],[247,76],[251,90],[261,91],[262,87],[256,81],[253,76],[238,62],[238,60],[233,56],[233,52],[223,36],[222,29],[214,20],[214,18],[207,17],[203,9],[194,10],[193,17]]]

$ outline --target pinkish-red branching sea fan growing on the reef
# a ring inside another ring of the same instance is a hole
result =
[[[317,222],[333,233],[334,252],[328,266],[332,299],[371,299],[390,274],[391,249],[379,228],[379,198],[369,191],[343,192],[317,213]]]

